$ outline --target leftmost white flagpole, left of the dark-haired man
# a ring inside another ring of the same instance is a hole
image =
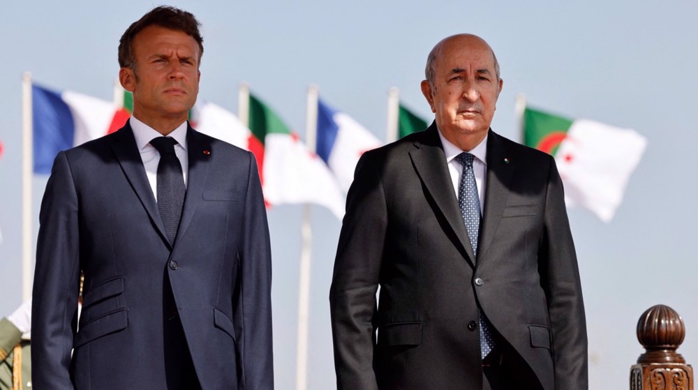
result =
[[[31,73],[22,75],[22,301],[31,298],[31,193],[33,151],[33,123],[31,117]]]

